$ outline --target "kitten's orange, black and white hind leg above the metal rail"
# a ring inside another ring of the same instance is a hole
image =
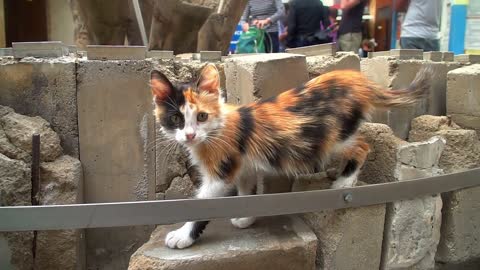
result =
[[[347,164],[343,169],[340,177],[332,184],[332,188],[353,187],[357,184],[357,177],[365,163],[365,159],[370,151],[370,147],[362,137],[354,139],[353,143],[345,147],[343,150],[344,158]]]

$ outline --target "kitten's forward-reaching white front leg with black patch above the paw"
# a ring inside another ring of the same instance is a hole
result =
[[[220,180],[204,179],[197,193],[197,198],[222,197],[229,194],[232,186]],[[187,222],[181,228],[171,231],[165,238],[165,245],[169,248],[187,248],[202,234],[209,221]]]

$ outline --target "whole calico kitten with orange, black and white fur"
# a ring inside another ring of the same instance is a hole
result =
[[[239,195],[255,189],[257,172],[308,174],[343,154],[346,166],[333,188],[357,181],[369,146],[357,135],[361,122],[375,108],[407,106],[425,97],[429,70],[421,71],[405,90],[385,90],[357,71],[334,71],[256,103],[223,102],[219,73],[207,65],[196,84],[173,85],[159,71],[151,73],[155,115],[164,134],[186,146],[202,175],[197,198]],[[254,217],[234,218],[246,228]],[[186,248],[208,221],[187,222],[170,232],[165,244]]]

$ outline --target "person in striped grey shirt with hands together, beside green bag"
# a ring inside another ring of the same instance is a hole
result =
[[[267,52],[275,53],[279,51],[277,22],[283,16],[285,9],[282,0],[249,0],[240,22],[244,32],[248,31],[250,23],[265,29],[265,48]]]

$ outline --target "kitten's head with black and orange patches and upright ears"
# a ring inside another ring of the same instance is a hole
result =
[[[195,146],[222,125],[220,77],[214,65],[205,66],[192,84],[174,85],[153,70],[150,85],[157,122],[170,139]]]

